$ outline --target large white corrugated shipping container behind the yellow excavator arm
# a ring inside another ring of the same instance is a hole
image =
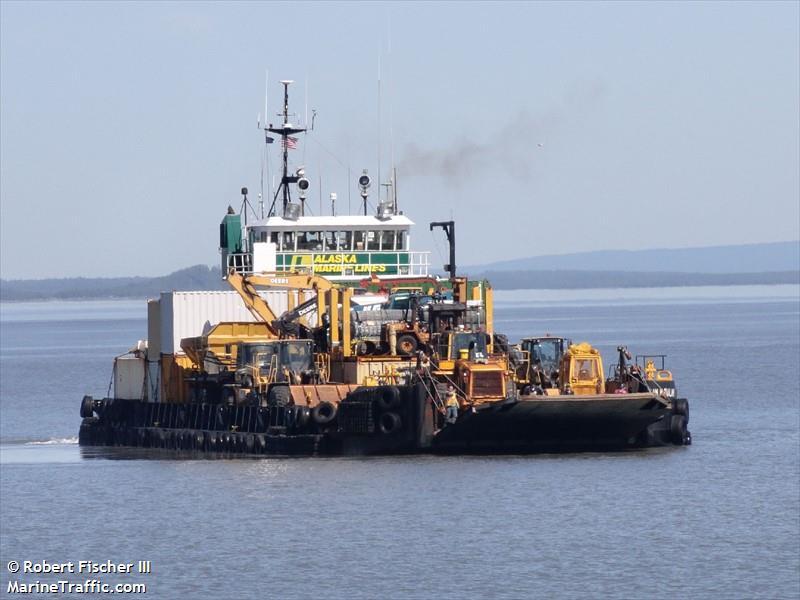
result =
[[[286,290],[260,292],[276,315],[289,306]],[[161,353],[181,353],[181,340],[203,335],[223,321],[254,322],[236,292],[162,292],[160,306]],[[148,327],[149,329],[149,327]]]

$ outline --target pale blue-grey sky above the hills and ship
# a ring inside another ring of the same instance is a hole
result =
[[[435,264],[796,240],[799,6],[3,1],[2,277],[217,264],[267,69],[311,210],[394,164]]]

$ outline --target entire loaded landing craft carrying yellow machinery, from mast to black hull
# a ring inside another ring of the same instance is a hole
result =
[[[314,456],[691,443],[663,356],[620,346],[606,374],[588,343],[510,345],[489,282],[456,274],[455,223],[431,223],[450,247],[449,276],[434,277],[394,181],[374,214],[364,171],[362,215],[336,215],[332,199],[330,216],[306,216],[290,83],[282,124],[264,128],[283,155],[271,206],[256,213],[243,188],[220,225],[232,291],[148,302],[148,339],[115,359],[113,395],[81,402],[82,445]]]

